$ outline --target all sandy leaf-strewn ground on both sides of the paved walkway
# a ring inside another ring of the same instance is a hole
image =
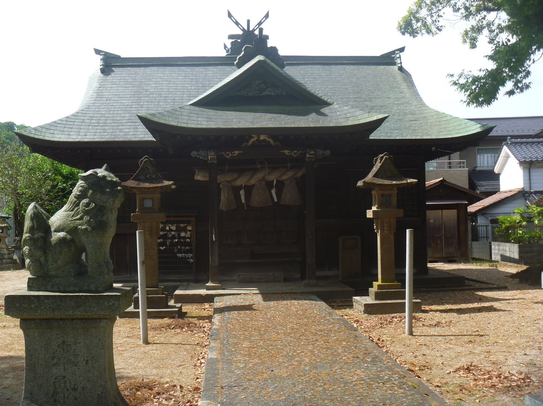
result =
[[[510,278],[520,269],[514,265],[431,265],[508,288],[487,290],[481,284],[479,290],[416,293],[424,312],[415,315],[413,337],[405,335],[402,315],[363,316],[352,306],[331,305],[413,375],[433,385],[450,404],[523,405],[526,393],[539,393],[543,386],[543,290]],[[0,272],[0,309],[6,293],[24,289],[27,276],[27,271]],[[184,309],[189,309],[190,319],[201,323],[200,327],[154,320],[149,346],[139,344],[137,320],[119,319],[115,327],[119,380],[157,379],[154,382],[182,385],[161,404],[198,404],[207,346],[205,324],[209,324],[211,309],[206,305]],[[3,311],[0,342],[0,404],[18,406],[24,343],[18,320],[4,316]]]

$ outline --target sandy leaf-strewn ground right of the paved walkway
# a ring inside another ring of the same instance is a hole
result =
[[[450,404],[524,405],[524,395],[543,384],[543,290],[510,278],[522,268],[515,265],[432,266],[508,288],[415,293],[423,312],[413,337],[405,335],[404,315],[335,307]]]

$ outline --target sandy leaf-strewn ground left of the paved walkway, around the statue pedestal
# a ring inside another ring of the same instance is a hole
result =
[[[4,296],[25,289],[28,275],[26,270],[0,272],[2,406],[20,405],[24,383],[23,333],[17,319],[4,315]],[[140,344],[138,319],[117,319],[113,330],[115,370],[121,389],[127,385],[136,388],[137,396],[128,396],[122,391],[130,398],[131,405],[153,405],[159,401],[169,406],[199,404],[212,308],[211,305],[194,305],[184,309],[188,312],[185,319],[149,319],[149,345]],[[155,385],[146,398],[141,396],[142,382]],[[161,386],[156,388],[158,383]]]

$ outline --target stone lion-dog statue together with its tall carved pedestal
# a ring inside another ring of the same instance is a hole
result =
[[[21,319],[24,333],[21,406],[128,405],[115,376],[113,324],[131,291],[113,288],[109,258],[124,193],[107,166],[79,179],[53,217],[28,208],[22,246],[31,276],[27,290],[5,296],[5,314]]]

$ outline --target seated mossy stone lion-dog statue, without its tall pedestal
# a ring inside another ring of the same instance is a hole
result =
[[[121,181],[104,165],[79,175],[67,204],[53,217],[36,202],[31,204],[22,238],[30,275],[68,278],[112,275],[109,246],[115,234],[117,209],[123,200]]]

